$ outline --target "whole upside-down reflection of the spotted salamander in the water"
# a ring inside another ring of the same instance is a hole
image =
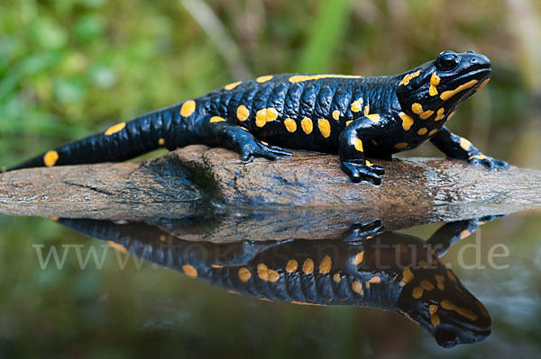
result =
[[[173,238],[143,223],[60,222],[243,295],[397,311],[430,331],[440,346],[478,342],[491,333],[488,311],[438,259],[454,240],[477,229],[477,220],[447,223],[427,242],[394,232],[381,234],[376,220],[354,224],[344,240],[224,245]]]

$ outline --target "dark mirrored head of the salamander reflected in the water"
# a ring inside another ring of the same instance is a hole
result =
[[[491,335],[491,317],[454,274],[437,269],[411,273],[399,295],[402,314],[425,327],[440,346],[477,343]]]

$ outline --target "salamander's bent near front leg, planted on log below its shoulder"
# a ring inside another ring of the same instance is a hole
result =
[[[374,122],[367,117],[353,121],[340,134],[338,154],[344,172],[354,183],[371,180],[381,184],[381,175],[385,173],[382,167],[374,166],[364,158],[363,140],[371,139]]]

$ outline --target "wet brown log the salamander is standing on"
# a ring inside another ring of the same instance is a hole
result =
[[[0,175],[0,211],[91,219],[179,218],[213,198],[242,206],[238,211],[244,218],[232,223],[231,229],[238,230],[235,226],[244,223],[254,234],[254,224],[261,226],[268,220],[288,220],[288,227],[297,223],[298,229],[308,230],[313,225],[379,217],[390,219],[385,224],[392,229],[406,223],[518,211],[541,203],[539,171],[488,171],[426,158],[373,162],[386,168],[381,186],[352,184],[331,155],[295,152],[294,157],[275,162],[257,158],[246,164],[224,148],[190,146],[140,163],[5,173]],[[250,209],[246,204],[252,205]],[[277,213],[275,205],[283,210],[283,218],[282,214],[261,217],[261,212]],[[292,205],[300,208],[292,210]]]

